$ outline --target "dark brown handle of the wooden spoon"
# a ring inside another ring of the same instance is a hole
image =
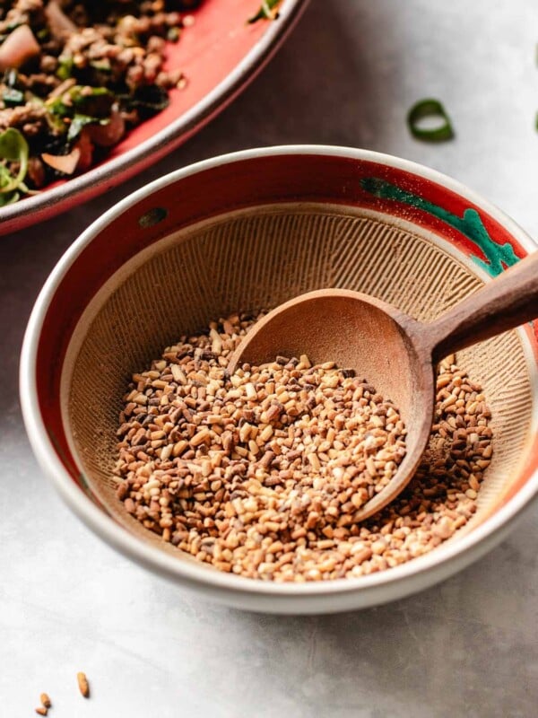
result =
[[[434,363],[538,317],[538,251],[423,325]]]

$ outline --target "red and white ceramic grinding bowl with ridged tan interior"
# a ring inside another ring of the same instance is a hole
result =
[[[275,147],[176,171],[93,223],[40,293],[22,351],[30,442],[101,538],[214,600],[322,613],[419,591],[498,543],[536,494],[535,325],[457,356],[482,383],[494,432],[472,521],[430,554],[356,579],[279,584],[222,574],[145,530],[117,500],[112,477],[122,396],[165,346],[233,311],[333,286],[431,320],[534,249],[454,180],[382,154]]]

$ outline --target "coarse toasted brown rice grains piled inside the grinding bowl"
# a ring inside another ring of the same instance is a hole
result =
[[[471,519],[490,411],[454,356],[438,367],[435,423],[412,483],[357,522],[404,457],[397,407],[352,371],[307,356],[230,376],[230,353],[255,321],[213,322],[134,374],[117,432],[126,512],[221,571],[277,582],[403,564]]]

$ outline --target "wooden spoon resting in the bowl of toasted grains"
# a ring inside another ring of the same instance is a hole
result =
[[[428,324],[386,302],[346,289],[301,294],[256,322],[230,358],[272,362],[308,355],[365,377],[400,409],[407,429],[404,460],[389,484],[365,503],[366,519],[400,494],[416,471],[430,436],[434,366],[444,356],[538,317],[538,251]]]

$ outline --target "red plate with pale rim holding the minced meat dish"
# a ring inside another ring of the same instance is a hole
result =
[[[275,21],[252,25],[261,0],[204,0],[195,23],[169,46],[168,67],[187,76],[183,90],[154,118],[131,131],[106,161],[73,180],[0,208],[0,234],[42,222],[96,197],[161,159],[224,109],[273,55],[308,0],[283,0]]]

